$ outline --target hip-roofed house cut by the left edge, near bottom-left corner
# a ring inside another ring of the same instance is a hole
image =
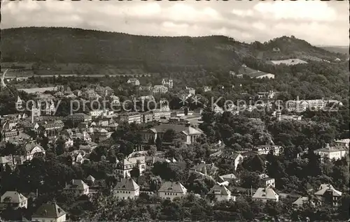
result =
[[[28,198],[17,191],[6,191],[1,195],[0,206],[12,207],[13,209],[27,208]]]

